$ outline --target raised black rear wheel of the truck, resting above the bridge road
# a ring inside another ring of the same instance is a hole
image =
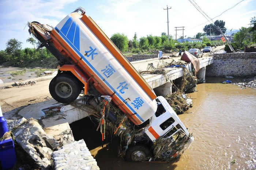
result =
[[[74,76],[60,73],[49,84],[52,97],[61,103],[73,102],[81,92],[80,82]]]

